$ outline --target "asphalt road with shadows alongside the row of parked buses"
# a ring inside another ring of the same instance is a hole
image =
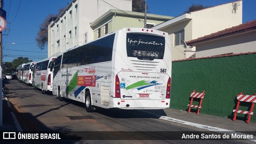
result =
[[[62,140],[28,140],[26,143],[106,144],[244,144],[237,140],[173,140],[202,129],[158,119],[143,110],[97,109],[88,113],[84,104],[59,101],[17,80],[7,80],[5,93],[24,132],[62,133]],[[163,110],[159,110],[161,114]],[[206,132],[207,133],[207,132]]]

